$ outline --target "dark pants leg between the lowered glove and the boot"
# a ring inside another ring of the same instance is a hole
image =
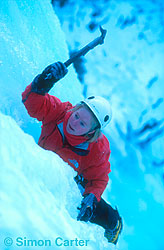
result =
[[[91,223],[102,226],[104,229],[114,228],[117,224],[118,212],[101,198],[90,219]]]

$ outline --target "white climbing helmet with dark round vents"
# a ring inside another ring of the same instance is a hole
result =
[[[110,103],[101,96],[90,96],[82,103],[85,103],[100,123],[100,128],[105,128],[112,119],[112,109]]]

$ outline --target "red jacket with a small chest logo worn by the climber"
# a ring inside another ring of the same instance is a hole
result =
[[[98,201],[106,188],[110,173],[110,149],[107,138],[102,135],[97,141],[71,146],[64,140],[63,119],[72,108],[70,102],[61,102],[49,94],[31,92],[31,84],[22,93],[22,101],[31,117],[42,121],[38,144],[57,153],[88,182],[84,194],[93,193]]]

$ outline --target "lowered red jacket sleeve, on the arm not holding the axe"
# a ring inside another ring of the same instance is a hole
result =
[[[93,193],[97,200],[100,201],[109,181],[108,174],[111,172],[109,163],[110,149],[109,147],[106,150],[102,148],[102,152],[97,152],[92,156],[89,167],[83,172],[84,179],[88,181],[83,195]]]

